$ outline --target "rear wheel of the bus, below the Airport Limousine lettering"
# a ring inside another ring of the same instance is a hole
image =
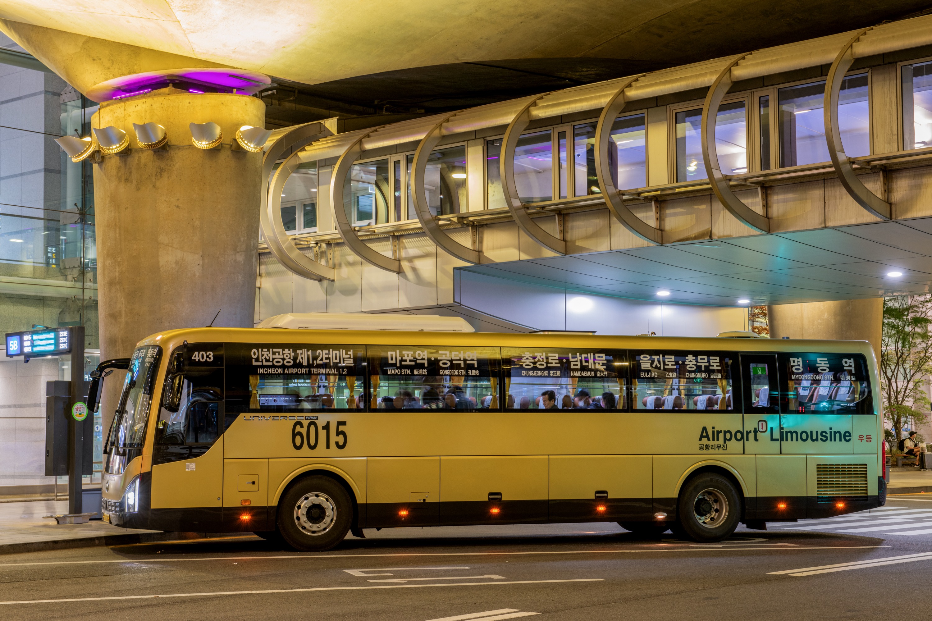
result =
[[[725,476],[703,473],[683,486],[678,502],[678,531],[698,542],[732,535],[741,517],[741,496]]]

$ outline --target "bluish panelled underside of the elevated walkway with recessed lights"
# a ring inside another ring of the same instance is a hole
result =
[[[599,296],[713,306],[925,294],[932,290],[932,218],[459,269]],[[902,276],[887,276],[891,271]],[[670,295],[659,297],[661,290]]]

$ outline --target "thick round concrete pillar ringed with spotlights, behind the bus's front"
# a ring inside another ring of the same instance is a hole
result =
[[[208,121],[223,144],[199,149],[188,124]],[[166,129],[167,150],[138,145],[132,123],[146,122]],[[265,126],[265,105],[164,89],[101,104],[91,124],[130,135],[129,155],[94,165],[102,359],[129,356],[160,330],[210,324],[221,309],[214,325],[251,327],[262,153],[230,143],[243,125]],[[104,417],[117,383],[107,382]]]

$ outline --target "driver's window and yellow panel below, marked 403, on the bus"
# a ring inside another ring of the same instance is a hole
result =
[[[172,352],[152,455],[152,520],[159,529],[197,530],[223,506],[223,344]]]

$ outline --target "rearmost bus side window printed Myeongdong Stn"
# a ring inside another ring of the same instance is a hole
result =
[[[781,353],[787,393],[784,413],[873,414],[864,356],[848,353]]]

